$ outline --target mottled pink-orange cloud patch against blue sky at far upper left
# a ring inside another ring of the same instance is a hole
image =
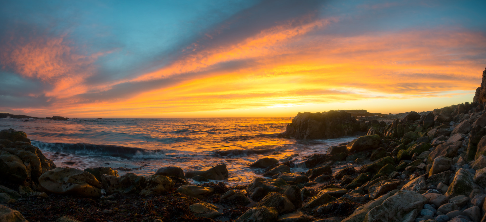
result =
[[[93,63],[103,54],[82,55],[69,43],[65,36],[26,38],[12,34],[2,45],[0,62],[23,77],[52,85],[43,92],[45,96],[68,98],[87,90],[83,82],[94,74]]]

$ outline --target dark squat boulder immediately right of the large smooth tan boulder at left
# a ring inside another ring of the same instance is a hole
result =
[[[138,176],[135,173],[126,173],[123,176],[102,175],[101,183],[107,194],[121,193],[132,194],[140,193],[147,186],[146,177]]]

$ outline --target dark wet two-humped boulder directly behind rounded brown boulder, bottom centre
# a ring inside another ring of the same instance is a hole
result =
[[[246,193],[248,197],[254,198],[263,198],[269,192],[279,192],[283,193],[287,188],[288,185],[283,179],[263,179],[261,177],[257,177],[253,179],[253,181],[248,184],[246,187]]]

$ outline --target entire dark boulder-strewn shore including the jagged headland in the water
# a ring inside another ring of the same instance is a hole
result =
[[[483,222],[485,82],[486,71],[471,103],[395,120],[299,113],[281,137],[365,133],[327,153],[259,159],[249,167],[264,173],[246,186],[209,182],[228,178],[224,164],[150,176],[56,167],[25,133],[2,130],[0,221]]]

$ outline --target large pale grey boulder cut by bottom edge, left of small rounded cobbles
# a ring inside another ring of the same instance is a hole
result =
[[[427,198],[417,192],[400,190],[371,209],[364,217],[364,222],[413,222],[426,203]]]

